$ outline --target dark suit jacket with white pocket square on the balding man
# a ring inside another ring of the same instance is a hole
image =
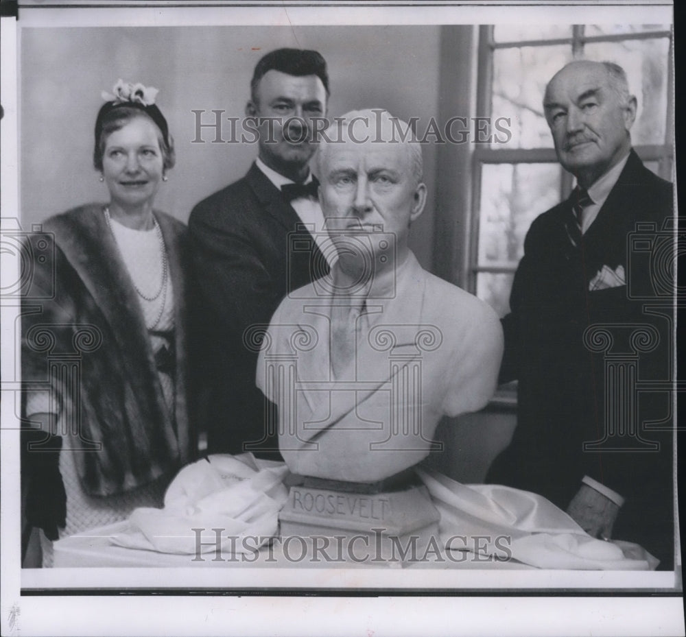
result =
[[[673,214],[672,184],[646,169],[632,151],[584,235],[582,250],[573,248],[567,237],[569,208],[569,202],[563,202],[543,213],[525,239],[510,296],[512,312],[503,320],[501,381],[519,380],[517,429],[487,481],[539,492],[564,509],[587,474],[626,498],[613,536],[643,544],[665,566],[674,531],[672,432],[648,431],[641,423],[669,418],[670,396],[617,394],[606,389],[606,383],[622,385],[626,378],[611,378],[604,366],[606,354],[622,357],[634,349],[629,341],[632,324],[649,324],[657,330],[659,344],[639,353],[637,380],[673,377],[671,322],[664,313],[650,313],[650,306],[670,308],[672,300],[659,290],[652,300],[631,298],[654,288],[661,259],[650,263],[650,256],[665,250],[670,255],[670,239],[665,241],[661,231]],[[639,239],[646,241],[635,242],[630,235],[639,222],[652,226],[639,230]],[[589,291],[589,282],[603,265],[613,270],[622,265],[628,285]],[[608,352],[593,352],[584,345],[584,330],[593,324],[611,324],[613,345]],[[606,401],[606,394],[615,400]],[[604,437],[613,409],[632,410],[639,435],[659,443],[659,450],[648,450],[630,436],[615,440],[619,451],[584,450],[584,442]]]

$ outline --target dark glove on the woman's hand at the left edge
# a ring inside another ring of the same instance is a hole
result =
[[[49,540],[58,540],[58,527],[64,529],[67,525],[67,493],[60,474],[62,437],[40,429],[24,429],[21,439],[28,479],[27,524],[43,529]]]

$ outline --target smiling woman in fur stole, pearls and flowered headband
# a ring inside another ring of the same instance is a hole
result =
[[[49,540],[161,506],[169,481],[195,455],[186,228],[153,208],[174,166],[156,93],[119,80],[114,95],[103,94],[93,159],[109,202],[45,221],[54,262],[33,263],[22,326],[32,428],[22,470],[25,531],[43,529],[44,566]]]

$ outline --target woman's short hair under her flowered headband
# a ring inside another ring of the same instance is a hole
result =
[[[127,101],[116,104],[108,101],[100,108],[95,120],[95,148],[93,149],[93,165],[96,170],[102,171],[102,156],[105,152],[105,143],[108,136],[120,130],[135,117],[147,117],[158,129],[158,140],[162,152],[163,167],[165,170],[174,167],[176,154],[174,152],[174,139],[169,133],[167,120],[162,112],[152,104],[143,106]]]

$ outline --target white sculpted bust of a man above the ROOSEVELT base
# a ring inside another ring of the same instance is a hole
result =
[[[481,409],[495,391],[497,315],[408,248],[427,189],[407,133],[375,109],[348,113],[322,136],[319,199],[338,261],[281,302],[257,367],[297,474],[391,477],[428,455],[442,416]]]

